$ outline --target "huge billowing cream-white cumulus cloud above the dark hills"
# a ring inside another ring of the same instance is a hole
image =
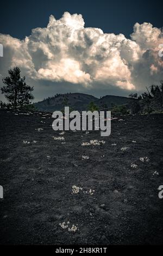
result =
[[[136,23],[127,39],[85,28],[82,15],[66,12],[59,20],[51,15],[46,28],[33,29],[24,40],[0,34],[4,46],[0,74],[17,65],[34,84],[142,90],[163,78],[163,58],[158,56],[162,42],[163,32],[150,23]]]

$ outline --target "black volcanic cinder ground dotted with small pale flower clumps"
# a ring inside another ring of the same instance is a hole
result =
[[[1,244],[162,243],[163,114],[117,117],[109,137],[51,116],[0,112]]]

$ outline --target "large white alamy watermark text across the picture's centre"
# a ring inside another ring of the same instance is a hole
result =
[[[111,133],[111,112],[110,111],[72,111],[69,113],[69,107],[65,107],[65,114],[63,116],[61,111],[54,111],[52,127],[54,131],[99,131],[101,136],[109,136]],[[72,120],[70,120],[72,119]]]

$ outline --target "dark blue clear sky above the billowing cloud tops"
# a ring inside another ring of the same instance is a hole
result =
[[[136,22],[162,27],[161,1],[2,1],[0,33],[23,39],[31,29],[45,27],[49,15],[60,19],[65,11],[82,14],[85,27],[98,27],[104,33],[123,33],[129,38]]]

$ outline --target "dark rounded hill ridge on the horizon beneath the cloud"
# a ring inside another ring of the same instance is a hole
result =
[[[53,112],[61,110],[64,106],[70,106],[74,110],[86,111],[89,103],[93,101],[99,108],[110,108],[114,105],[129,103],[128,97],[106,95],[98,99],[95,96],[84,93],[56,94],[45,100],[34,103],[39,111]]]

